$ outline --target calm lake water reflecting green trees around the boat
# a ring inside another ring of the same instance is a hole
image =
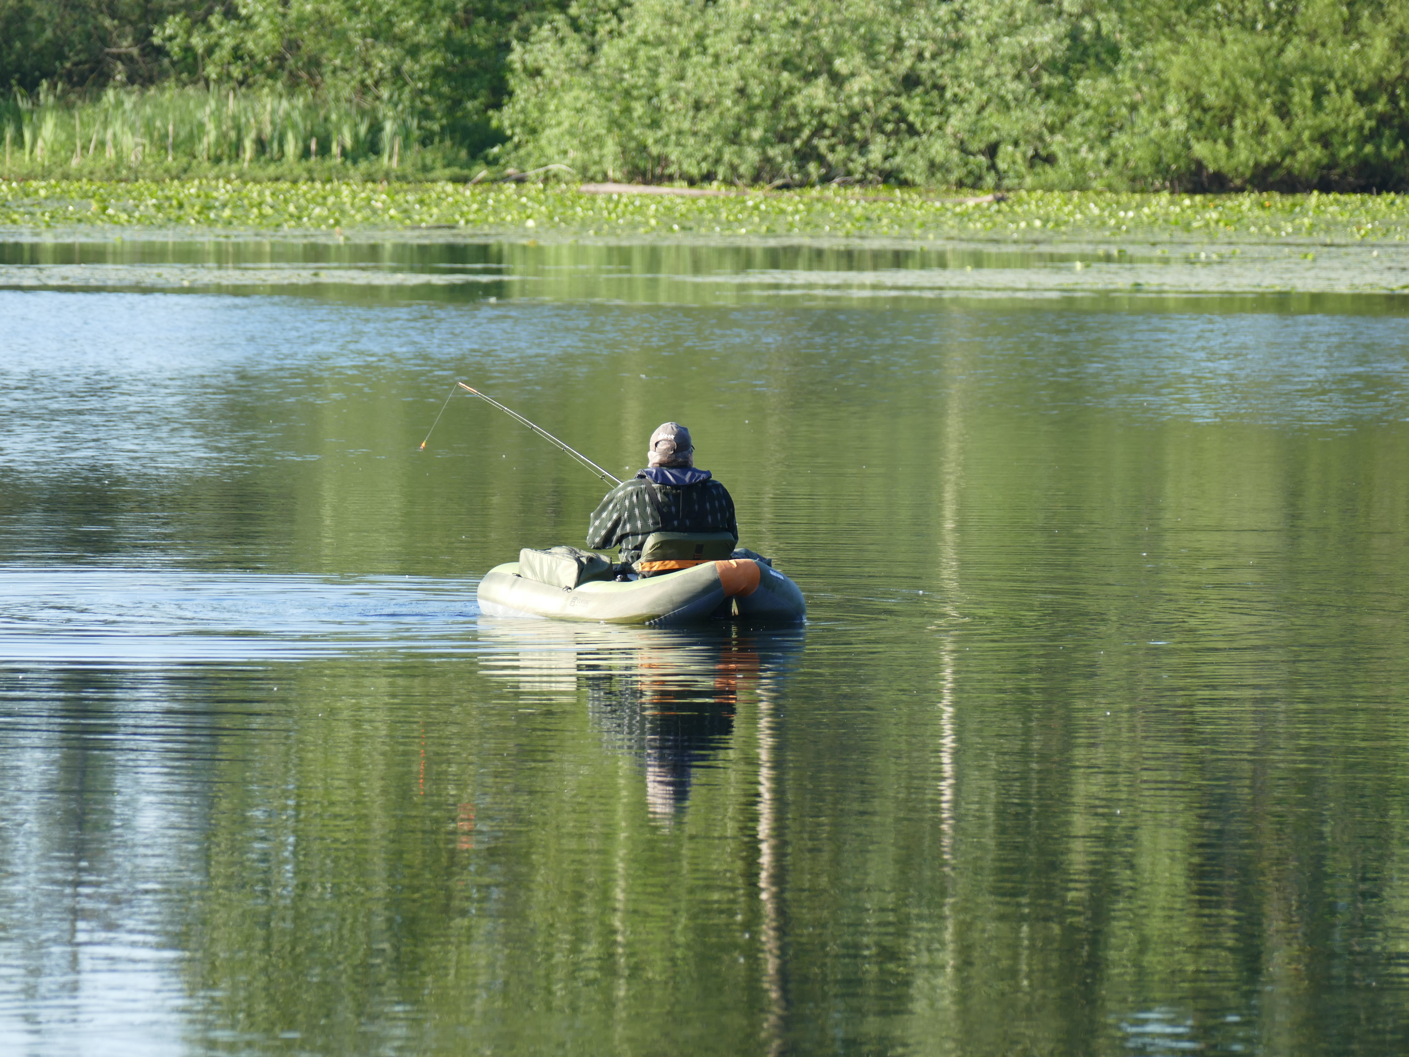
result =
[[[6,1053],[1409,1047],[1402,297],[0,261]],[[480,617],[602,488],[455,379],[686,423],[807,624]]]

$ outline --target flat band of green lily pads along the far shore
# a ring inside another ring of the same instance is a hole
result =
[[[321,173],[320,173],[321,175]],[[310,173],[311,176],[311,173]],[[1043,192],[914,187],[621,187],[376,179],[0,180],[13,233],[378,233],[444,238],[1402,244],[1405,194]],[[502,175],[500,175],[502,178]],[[674,193],[672,193],[674,192]]]

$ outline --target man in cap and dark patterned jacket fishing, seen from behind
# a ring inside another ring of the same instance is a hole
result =
[[[734,500],[707,469],[695,469],[690,431],[668,421],[651,434],[647,466],[607,492],[592,512],[588,547],[621,547],[635,562],[651,533],[730,533],[738,543]]]

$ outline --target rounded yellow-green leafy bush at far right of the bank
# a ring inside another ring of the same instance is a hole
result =
[[[1140,56],[1144,59],[1144,56]],[[1131,69],[1153,90],[1116,141],[1144,182],[1353,190],[1409,179],[1409,6],[1216,4]]]

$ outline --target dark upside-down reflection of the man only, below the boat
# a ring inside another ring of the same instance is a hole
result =
[[[740,664],[758,674],[757,654],[720,657],[713,679],[703,674],[651,671],[586,672],[588,715],[603,741],[641,761],[651,816],[669,822],[685,808],[690,772],[734,733]]]

